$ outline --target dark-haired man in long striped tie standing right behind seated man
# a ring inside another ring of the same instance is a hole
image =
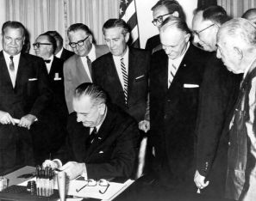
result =
[[[109,53],[92,64],[93,82],[107,91],[112,103],[140,122],[146,114],[150,53],[128,47],[128,25],[121,19],[106,21],[103,34]]]

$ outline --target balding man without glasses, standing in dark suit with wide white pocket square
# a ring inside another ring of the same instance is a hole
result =
[[[194,143],[205,52],[190,44],[185,21],[170,16],[159,28],[163,50],[150,67],[150,139],[160,184],[196,192]]]

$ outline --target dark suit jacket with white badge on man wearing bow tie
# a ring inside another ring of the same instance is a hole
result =
[[[65,142],[68,111],[64,93],[63,63],[62,59],[53,58],[48,74],[53,100],[43,111],[41,124],[35,125],[34,128],[34,152],[38,164],[49,157],[49,153],[53,154],[59,150]]]

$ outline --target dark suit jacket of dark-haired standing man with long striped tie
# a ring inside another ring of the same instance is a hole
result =
[[[127,105],[112,54],[105,54],[92,63],[93,82],[104,88],[112,103],[122,107],[138,122],[146,113],[149,62],[149,52],[129,48]]]

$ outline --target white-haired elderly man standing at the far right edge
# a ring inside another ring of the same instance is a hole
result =
[[[217,57],[234,74],[244,73],[228,148],[227,198],[256,200],[256,27],[251,21],[233,19],[217,34]]]

